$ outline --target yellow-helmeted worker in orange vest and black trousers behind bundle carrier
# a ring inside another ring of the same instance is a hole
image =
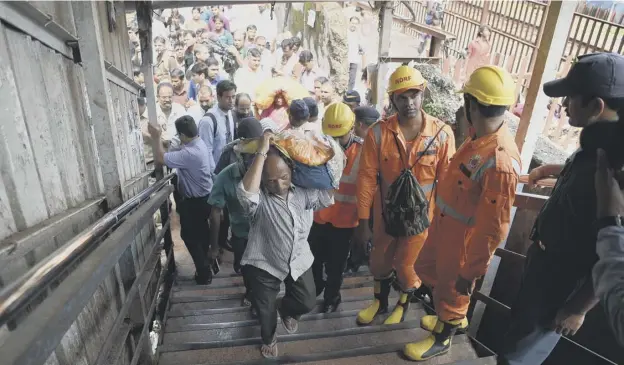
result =
[[[347,264],[353,229],[358,225],[355,184],[364,141],[355,135],[355,114],[344,103],[327,107],[323,117],[323,133],[331,136],[344,149],[347,163],[334,193],[334,205],[314,213],[314,224],[308,236],[314,255],[312,274],[316,293],[325,290],[323,313],[335,312],[340,305],[342,272]],[[323,280],[323,268],[327,281]]]

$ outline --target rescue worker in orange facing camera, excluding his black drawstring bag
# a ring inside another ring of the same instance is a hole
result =
[[[360,222],[354,235],[354,245],[365,247],[372,234],[369,267],[375,285],[373,303],[357,315],[360,325],[371,324],[376,316],[388,312],[390,286],[395,279],[402,292],[384,324],[402,322],[414,290],[420,285],[414,263],[427,231],[409,237],[389,235],[382,214],[381,196],[384,194],[385,199],[388,187],[404,170],[410,169],[427,202],[431,202],[435,180],[446,170],[455,153],[451,128],[422,110],[426,86],[427,81],[418,70],[409,66],[398,67],[390,76],[388,87],[390,102],[398,112],[373,124],[364,141],[357,184]],[[372,233],[369,226],[371,206]],[[432,213],[432,207],[429,207],[425,217],[430,217]]]

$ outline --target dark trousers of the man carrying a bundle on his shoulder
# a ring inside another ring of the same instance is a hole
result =
[[[277,295],[282,281],[250,265],[243,266],[243,275],[247,277],[251,287],[251,302],[258,312],[262,342],[269,345],[273,341],[277,328]],[[308,269],[296,281],[288,275],[284,284],[286,294],[280,305],[281,316],[298,319],[302,314],[314,309],[316,297],[311,269]]]

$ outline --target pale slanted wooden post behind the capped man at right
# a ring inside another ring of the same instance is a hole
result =
[[[544,129],[548,114],[547,107],[550,98],[542,91],[542,85],[556,78],[575,9],[576,1],[551,1],[548,5],[524,110],[516,132],[516,144],[522,160],[522,173],[529,170],[537,138]]]

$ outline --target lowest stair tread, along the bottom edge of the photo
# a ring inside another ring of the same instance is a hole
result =
[[[308,364],[395,364],[407,363],[398,354],[407,341],[425,338],[428,332],[408,328],[386,332],[353,334],[334,338],[309,339],[280,342],[276,363]],[[476,353],[466,336],[456,336],[449,353],[424,362],[424,364],[447,364],[457,360],[475,359]],[[160,365],[173,364],[253,364],[262,362],[259,344],[222,347],[207,350],[191,350],[163,353]]]

